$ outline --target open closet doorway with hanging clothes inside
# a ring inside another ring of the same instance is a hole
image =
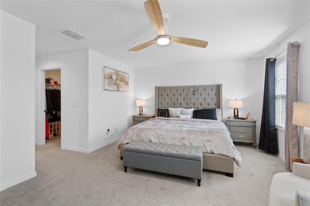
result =
[[[42,72],[42,132],[41,145],[57,141],[61,147],[62,134],[62,67],[45,68]]]

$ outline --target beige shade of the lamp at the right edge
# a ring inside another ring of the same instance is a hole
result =
[[[310,103],[294,102],[292,123],[310,128]]]

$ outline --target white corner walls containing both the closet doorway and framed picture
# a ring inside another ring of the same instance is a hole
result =
[[[103,90],[104,65],[129,74],[129,92]],[[41,56],[36,58],[37,88],[41,87],[41,69],[59,66],[62,66],[62,149],[89,153],[117,141],[132,125],[134,69],[88,49]],[[36,90],[36,108],[39,119],[40,89]],[[36,127],[39,130],[39,121]],[[39,132],[36,138],[40,138]]]

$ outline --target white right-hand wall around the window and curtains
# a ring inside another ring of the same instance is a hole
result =
[[[275,57],[280,52],[287,48],[287,43],[298,41],[299,47],[299,89],[298,89],[298,101],[299,102],[310,102],[310,21],[305,23],[299,29],[294,31],[288,38],[278,44],[272,51],[264,56],[263,61],[267,58]],[[284,151],[284,132],[278,130],[278,147],[279,147],[279,158],[285,160]],[[299,157],[302,158],[303,152],[303,127],[299,127],[298,135],[298,150]]]

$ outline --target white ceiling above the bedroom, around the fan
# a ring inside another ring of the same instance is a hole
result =
[[[0,1],[2,11],[36,25],[37,56],[89,48],[135,68],[263,57],[310,19],[309,0],[159,0],[159,4],[162,13],[170,15],[171,35],[209,45],[172,42],[127,51],[157,36],[142,0]],[[75,40],[59,32],[69,28],[89,39]]]

